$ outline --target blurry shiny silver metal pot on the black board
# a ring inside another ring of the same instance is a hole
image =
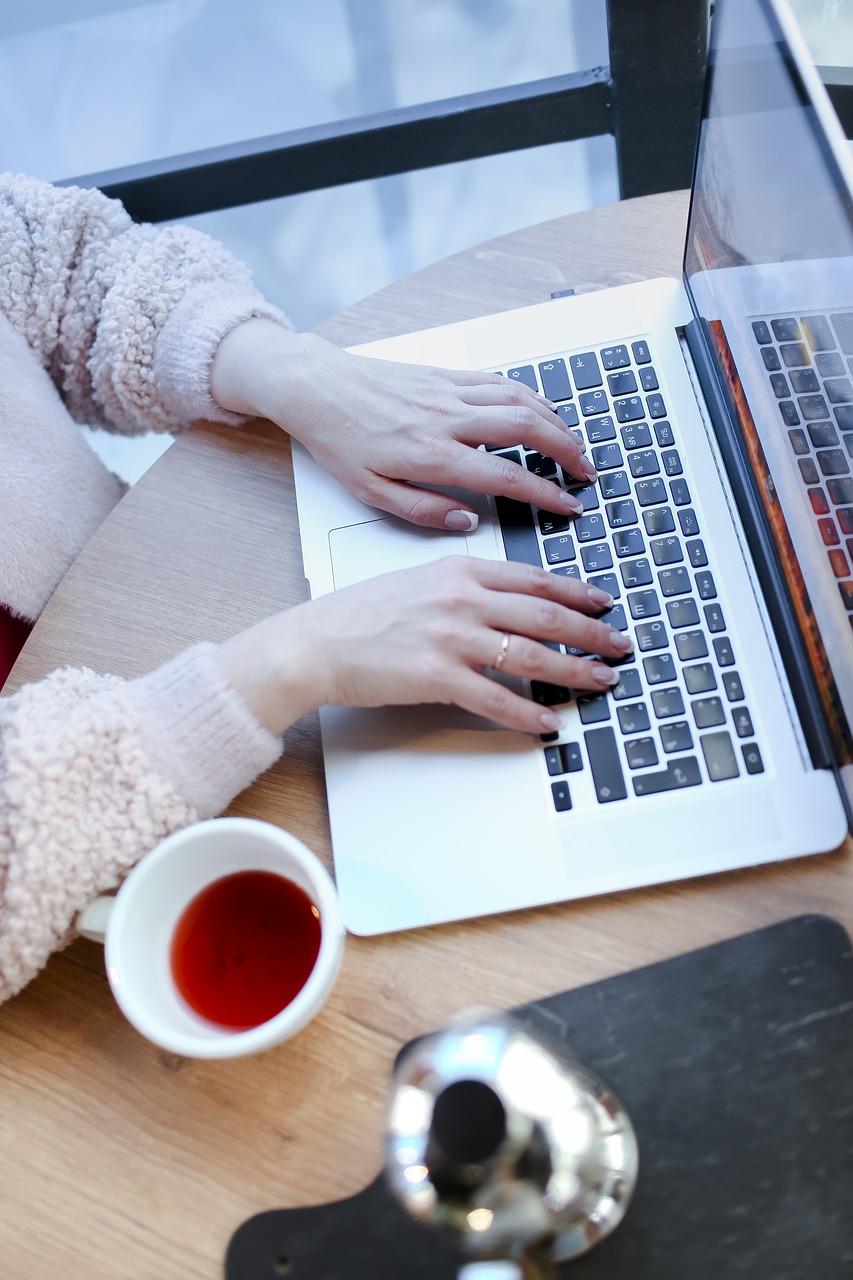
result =
[[[548,1276],[617,1226],[637,1166],[619,1100],[510,1016],[467,1015],[397,1064],[388,1184],[474,1261]]]

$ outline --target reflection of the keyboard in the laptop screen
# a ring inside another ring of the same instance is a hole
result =
[[[853,626],[853,311],[752,325]]]

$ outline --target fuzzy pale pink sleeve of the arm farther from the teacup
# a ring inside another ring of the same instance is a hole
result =
[[[288,325],[222,244],[136,224],[117,200],[0,174],[0,311],[70,415],[127,435],[199,417],[240,424],[210,396],[224,335],[255,316]]]

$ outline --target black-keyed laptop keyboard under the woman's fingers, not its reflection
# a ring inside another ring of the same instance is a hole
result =
[[[603,621],[634,640],[634,654],[613,663],[620,682],[611,691],[532,682],[535,701],[576,712],[566,717],[567,732],[543,739],[556,810],[573,808],[574,778],[584,771],[598,804],[763,773],[739,654],[648,343],[519,365],[506,376],[557,404],[598,471],[597,483],[581,485],[524,445],[492,449],[584,506],[573,518],[498,498],[507,559],[608,591],[615,604]]]

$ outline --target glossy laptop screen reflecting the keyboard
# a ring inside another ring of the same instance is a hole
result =
[[[840,132],[827,137],[829,104],[817,101],[802,42],[785,38],[790,18],[776,10],[771,0],[717,3],[684,269],[758,479],[836,760],[850,764],[850,170]]]

